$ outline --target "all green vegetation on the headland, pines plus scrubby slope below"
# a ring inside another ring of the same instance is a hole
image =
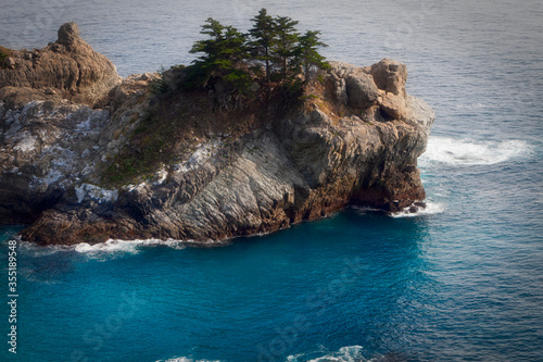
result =
[[[207,18],[189,66],[161,68],[150,90],[157,103],[102,171],[108,186],[152,178],[162,164],[173,171],[217,135],[229,160],[243,136],[279,120],[293,104],[313,99],[304,89],[329,67],[319,32],[300,34],[296,21],[262,9],[247,34]],[[278,107],[280,105],[280,107]]]

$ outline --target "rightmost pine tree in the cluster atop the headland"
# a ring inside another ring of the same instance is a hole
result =
[[[330,65],[326,62],[326,58],[320,55],[317,51],[318,48],[328,47],[325,42],[320,41],[320,32],[307,30],[300,37],[299,43],[294,50],[294,64],[303,70],[305,83],[310,82],[311,70],[328,68]]]

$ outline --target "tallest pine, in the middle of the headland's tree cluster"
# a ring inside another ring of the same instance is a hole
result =
[[[249,34],[254,39],[251,47],[256,59],[264,61],[266,64],[266,79],[269,83],[270,61],[273,60],[272,47],[276,37],[274,18],[267,14],[266,9],[262,8],[258,15],[251,21],[254,22],[253,27],[249,30]]]

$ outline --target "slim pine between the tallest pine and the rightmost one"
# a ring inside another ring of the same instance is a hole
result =
[[[277,55],[283,79],[287,77],[289,59],[294,55],[294,49],[300,36],[295,28],[298,23],[288,16],[277,16],[274,20],[277,40],[273,50]]]

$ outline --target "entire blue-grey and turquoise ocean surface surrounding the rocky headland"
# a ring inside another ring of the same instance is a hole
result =
[[[260,8],[320,29],[333,60],[407,64],[437,112],[428,209],[349,209],[213,249],[18,244],[17,353],[1,361],[543,361],[541,1],[2,0],[0,45],[76,21],[126,76],[190,63],[212,16]]]

